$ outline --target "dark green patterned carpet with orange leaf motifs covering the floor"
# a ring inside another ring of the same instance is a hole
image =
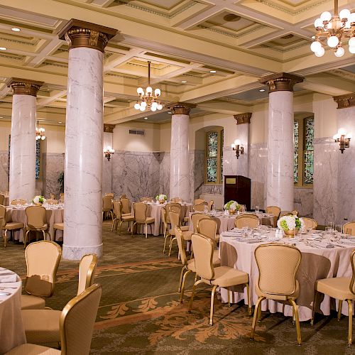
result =
[[[290,318],[263,312],[256,339],[249,334],[251,317],[246,306],[214,306],[214,325],[209,326],[209,288],[201,286],[192,313],[187,305],[192,276],[187,278],[184,302],[178,302],[181,264],[177,251],[162,253],[162,236],[131,237],[111,233],[104,222],[104,256],[96,282],[102,284],[92,354],[355,354],[347,346],[347,317],[318,315],[314,327],[301,323],[302,346],[297,346]],[[2,239],[1,239],[2,241]],[[23,246],[0,246],[0,266],[25,275]],[[55,294],[46,304],[62,309],[76,293],[78,263],[61,261]]]

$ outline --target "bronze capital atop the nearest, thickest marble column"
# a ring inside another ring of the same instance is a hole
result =
[[[69,49],[84,47],[104,52],[109,40],[118,32],[115,28],[72,18],[60,30],[58,38],[60,40],[67,40]]]

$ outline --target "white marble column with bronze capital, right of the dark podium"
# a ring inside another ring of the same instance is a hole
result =
[[[293,86],[302,77],[279,73],[263,77],[268,85],[268,165],[266,206],[293,210]]]

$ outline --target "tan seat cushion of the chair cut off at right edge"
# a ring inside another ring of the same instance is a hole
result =
[[[351,278],[324,278],[316,281],[315,289],[337,300],[355,300],[349,288],[350,281]]]

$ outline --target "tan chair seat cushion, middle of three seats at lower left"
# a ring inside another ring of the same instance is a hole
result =
[[[58,310],[22,310],[27,342],[33,344],[60,342],[61,313]]]

